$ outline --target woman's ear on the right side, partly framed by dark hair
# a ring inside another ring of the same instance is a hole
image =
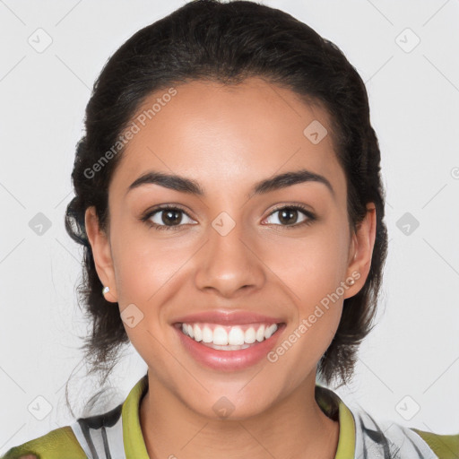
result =
[[[345,292],[343,298],[350,298],[359,293],[367,281],[371,258],[377,233],[377,210],[375,204],[367,204],[367,214],[352,233],[346,279],[355,282]],[[348,283],[349,285],[349,283]]]

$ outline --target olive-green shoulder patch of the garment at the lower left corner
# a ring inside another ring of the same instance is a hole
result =
[[[26,455],[36,455],[39,459],[86,459],[70,426],[51,430],[42,437],[14,446],[0,459],[20,459]]]

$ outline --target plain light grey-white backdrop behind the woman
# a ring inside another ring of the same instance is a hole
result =
[[[378,325],[336,392],[377,420],[458,433],[459,3],[263,3],[342,49],[366,83],[382,152],[390,242]],[[74,369],[75,406],[97,388],[78,350],[82,251],[64,228],[74,147],[108,57],[182,4],[0,1],[0,452],[73,421]],[[113,403],[145,371],[127,349]]]

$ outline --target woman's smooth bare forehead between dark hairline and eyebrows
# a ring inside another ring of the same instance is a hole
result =
[[[230,86],[194,81],[173,90],[152,93],[137,110],[112,184],[127,188],[153,169],[194,178],[204,188],[236,182],[244,188],[307,168],[343,190],[325,108],[259,78]]]

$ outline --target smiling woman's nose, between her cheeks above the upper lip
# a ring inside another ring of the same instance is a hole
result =
[[[211,226],[208,234],[196,260],[196,287],[214,290],[225,298],[238,296],[242,290],[261,289],[266,280],[264,264],[242,225],[236,224],[228,234]]]

